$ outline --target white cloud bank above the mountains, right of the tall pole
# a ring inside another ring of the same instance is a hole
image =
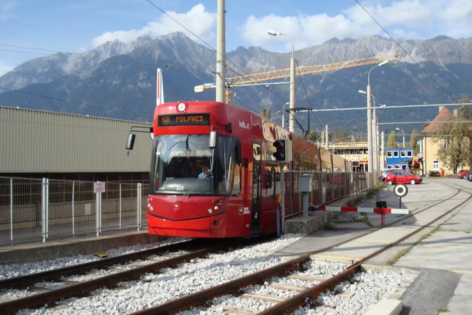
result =
[[[363,7],[392,36],[415,38],[421,31],[440,30],[437,35],[453,37],[472,36],[471,0],[403,0],[391,2],[388,6],[362,4]],[[357,4],[337,16],[327,14],[297,16],[268,15],[256,18],[251,15],[241,27],[241,36],[252,45],[267,47],[271,43],[291,44],[283,36],[270,36],[268,30],[274,29],[287,34],[295,42],[297,49],[321,44],[333,37],[343,39],[360,36],[383,35],[384,31]]]

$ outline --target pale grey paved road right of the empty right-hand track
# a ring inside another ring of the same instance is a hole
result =
[[[472,183],[462,179],[435,179],[460,185],[472,193]],[[425,238],[396,265],[425,268],[404,294],[410,309],[402,315],[472,314],[472,203],[451,213],[439,230]],[[442,312],[440,312],[441,310]]]

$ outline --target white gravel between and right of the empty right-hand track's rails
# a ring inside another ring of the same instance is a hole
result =
[[[323,263],[317,261],[309,261],[305,264],[308,268],[305,272],[296,272],[302,275],[332,277],[346,270],[347,265],[337,263]],[[293,314],[324,314],[324,315],[362,315],[377,301],[387,298],[393,293],[405,280],[405,274],[398,273],[357,273],[351,282],[343,282],[333,291],[326,291],[314,302],[314,305],[305,305],[299,307]],[[256,284],[246,288],[245,293],[257,293],[272,295],[278,297],[290,298],[297,294],[296,291],[281,290],[271,288],[268,285],[273,283],[283,283],[288,285],[311,287],[319,284],[318,281],[301,281],[298,279],[289,279],[285,277],[274,277],[264,284]],[[339,295],[343,292],[355,292],[351,297]],[[224,314],[222,305],[235,306],[239,308],[264,311],[272,306],[275,302],[264,302],[258,299],[242,298],[234,295],[224,295],[216,297],[212,301],[213,306],[209,309],[203,307],[194,307],[189,310],[179,312],[178,315],[216,315]],[[320,309],[322,305],[335,304],[335,308]]]

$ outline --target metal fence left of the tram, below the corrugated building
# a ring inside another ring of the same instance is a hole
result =
[[[0,177],[0,245],[140,230],[148,184]]]

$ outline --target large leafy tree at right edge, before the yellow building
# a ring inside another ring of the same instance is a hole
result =
[[[458,103],[470,103],[470,94],[462,94]],[[470,165],[470,137],[472,136],[472,108],[462,106],[457,110],[457,115],[450,115],[443,122],[437,123],[431,132],[431,141],[439,145],[438,159],[451,168],[454,174],[459,165]],[[437,136],[435,136],[437,135]]]

